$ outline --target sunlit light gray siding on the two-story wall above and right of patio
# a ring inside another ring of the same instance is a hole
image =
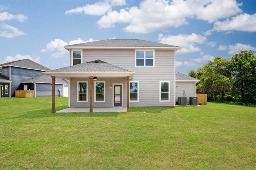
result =
[[[83,49],[83,63],[96,59],[136,71],[130,80],[139,81],[139,102],[130,102],[130,106],[175,106],[174,50],[155,50],[155,67],[135,67],[134,49]],[[159,101],[159,81],[170,81],[170,102]],[[76,100],[70,98],[70,103],[74,102]]]

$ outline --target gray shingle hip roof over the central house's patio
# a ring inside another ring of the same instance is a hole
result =
[[[87,63],[81,63],[64,67],[50,72],[131,72],[121,67],[112,65],[102,60],[94,60]]]

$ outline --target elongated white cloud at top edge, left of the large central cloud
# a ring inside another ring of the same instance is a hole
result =
[[[112,6],[125,5],[125,0],[105,0],[103,2],[96,2],[95,4],[86,4],[85,6],[79,6],[71,10],[67,10],[65,14],[77,14],[82,13],[88,15],[104,15],[106,12],[112,9]]]

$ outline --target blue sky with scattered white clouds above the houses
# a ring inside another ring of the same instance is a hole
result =
[[[220,56],[256,51],[255,0],[0,1],[0,63],[29,58],[68,65],[63,45],[142,39],[180,46],[176,69],[188,73]]]

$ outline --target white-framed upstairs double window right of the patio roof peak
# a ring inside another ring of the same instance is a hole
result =
[[[135,51],[136,67],[154,67],[154,51]]]

